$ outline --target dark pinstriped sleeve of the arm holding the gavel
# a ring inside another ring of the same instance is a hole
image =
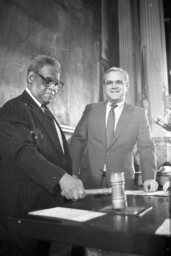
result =
[[[65,170],[48,161],[37,149],[26,115],[16,104],[1,109],[0,153],[11,159],[15,168],[53,193]]]

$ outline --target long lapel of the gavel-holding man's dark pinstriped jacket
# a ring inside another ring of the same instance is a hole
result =
[[[61,145],[58,140],[57,132],[55,131],[51,122],[49,122],[48,117],[45,116],[41,108],[34,102],[34,100],[30,97],[30,95],[24,91],[23,93],[24,102],[28,104],[30,111],[36,116],[36,118],[40,121],[42,127],[47,131],[47,136],[50,138],[51,142],[57,148],[57,150],[63,154],[61,149]],[[56,137],[56,140],[54,139]]]

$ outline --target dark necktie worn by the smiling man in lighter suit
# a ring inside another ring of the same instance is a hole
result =
[[[117,107],[117,105],[111,104],[111,109],[108,115],[107,119],[107,126],[106,126],[106,142],[107,147],[111,145],[111,142],[114,138],[114,127],[115,127],[115,111],[114,109]]]

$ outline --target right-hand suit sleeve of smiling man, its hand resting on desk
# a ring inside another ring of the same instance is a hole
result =
[[[137,149],[143,180],[156,178],[156,155],[148,117],[143,110],[140,121]]]

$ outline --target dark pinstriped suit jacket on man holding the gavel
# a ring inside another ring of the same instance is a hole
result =
[[[65,154],[53,125],[26,91],[1,108],[1,222],[9,215],[63,203],[58,182],[71,173],[64,135],[63,141]]]

